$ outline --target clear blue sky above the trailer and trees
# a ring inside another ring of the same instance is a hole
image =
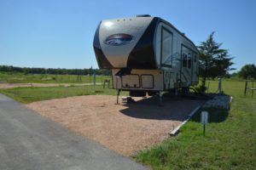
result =
[[[256,64],[256,1],[0,0],[0,65],[97,68],[92,42],[100,20],[151,14],[196,45],[215,31],[238,70]]]

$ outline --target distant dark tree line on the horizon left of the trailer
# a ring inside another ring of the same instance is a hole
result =
[[[24,74],[53,74],[53,75],[111,75],[110,70],[103,69],[61,69],[61,68],[29,68],[29,67],[18,67],[12,65],[0,65],[0,71],[4,72],[20,72]]]

